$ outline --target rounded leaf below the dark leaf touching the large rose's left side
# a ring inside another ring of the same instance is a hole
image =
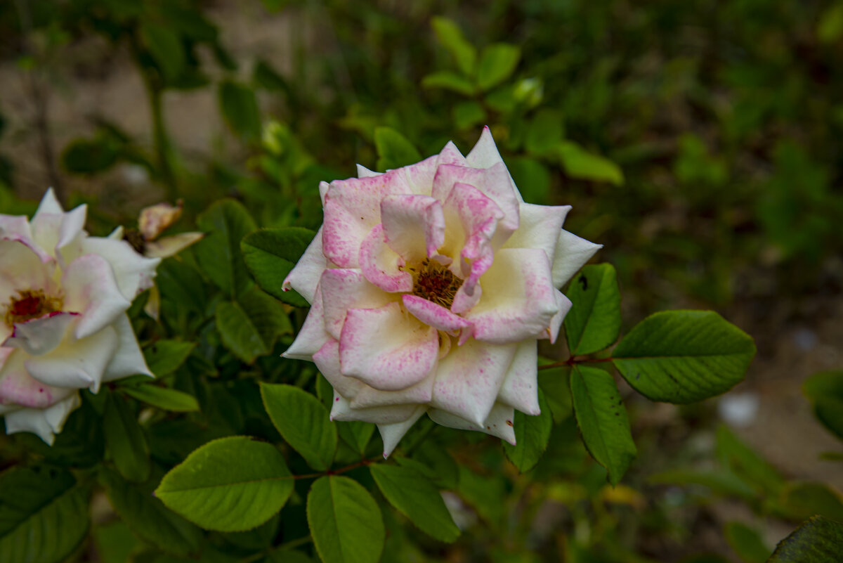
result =
[[[217,303],[215,318],[223,345],[246,363],[270,353],[278,336],[293,333],[281,303],[256,287],[237,301]]]

